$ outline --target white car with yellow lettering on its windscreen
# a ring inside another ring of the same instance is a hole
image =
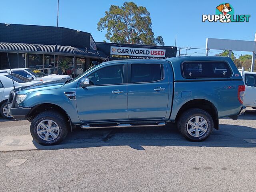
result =
[[[10,69],[0,70],[0,73],[10,73]],[[46,75],[35,68],[16,68],[12,69],[13,74],[19,74],[33,81],[57,81],[62,79],[71,79],[69,75],[51,74]]]

